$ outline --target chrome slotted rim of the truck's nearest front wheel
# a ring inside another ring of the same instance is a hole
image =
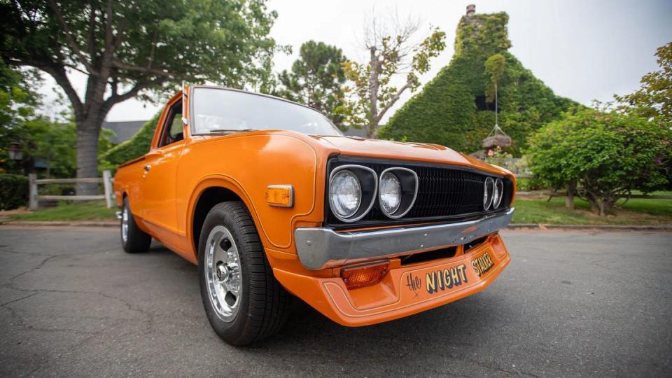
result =
[[[236,318],[242,295],[238,247],[231,232],[218,225],[210,231],[206,248],[204,269],[210,302],[217,317],[228,323]]]

